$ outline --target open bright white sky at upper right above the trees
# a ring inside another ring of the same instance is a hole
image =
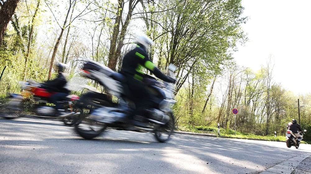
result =
[[[274,80],[295,94],[311,93],[311,1],[242,0],[249,41],[234,53],[253,70],[274,57]]]

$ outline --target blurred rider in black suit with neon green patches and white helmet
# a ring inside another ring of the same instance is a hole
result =
[[[149,108],[150,95],[143,83],[145,73],[142,68],[151,71],[156,77],[169,83],[175,83],[175,80],[164,75],[149,59],[147,50],[153,44],[153,41],[146,36],[138,37],[136,48],[129,51],[123,58],[121,73],[126,77],[125,84],[130,90],[130,99],[135,103],[135,111],[129,114],[129,127],[132,130],[132,119],[137,114],[143,114],[143,109]]]

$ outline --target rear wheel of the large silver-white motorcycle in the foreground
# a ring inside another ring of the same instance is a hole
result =
[[[88,117],[75,124],[75,131],[77,134],[87,140],[91,140],[99,136],[106,128],[106,124],[96,122]]]

